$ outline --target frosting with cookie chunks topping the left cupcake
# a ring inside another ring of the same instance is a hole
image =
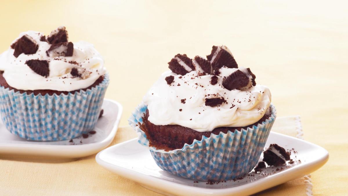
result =
[[[47,37],[27,31],[0,55],[6,82],[19,90],[74,91],[88,88],[106,73],[104,60],[92,44],[68,41],[65,27]]]

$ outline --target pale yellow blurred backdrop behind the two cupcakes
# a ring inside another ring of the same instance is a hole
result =
[[[347,7],[344,1],[1,1],[0,51],[20,32],[47,35],[65,25],[69,40],[93,43],[104,56],[111,76],[106,98],[124,106],[122,126],[175,54],[203,56],[212,45],[226,45],[256,83],[270,88],[278,116],[301,115],[305,140],[329,151],[328,163],[312,174],[314,194],[345,195]]]

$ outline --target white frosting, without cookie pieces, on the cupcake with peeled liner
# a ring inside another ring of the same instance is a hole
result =
[[[155,125],[181,125],[200,132],[217,127],[244,127],[259,121],[270,106],[271,93],[261,85],[243,91],[225,89],[223,77],[236,70],[222,67],[215,85],[210,84],[211,75],[198,76],[197,71],[184,76],[172,71],[163,73],[143,98],[148,105],[149,121]],[[165,81],[167,76],[174,76],[171,85]],[[227,103],[206,106],[205,98],[214,97],[223,97]],[[186,99],[185,104],[181,99]]]

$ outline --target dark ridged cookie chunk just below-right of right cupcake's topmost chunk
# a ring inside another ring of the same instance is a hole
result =
[[[222,82],[224,88],[228,90],[242,90],[248,87],[249,77],[241,70],[236,70],[231,75],[227,76]]]

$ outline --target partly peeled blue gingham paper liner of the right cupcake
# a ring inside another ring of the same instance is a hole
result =
[[[144,131],[139,128],[147,105],[142,103],[128,119],[139,133],[138,142],[149,148],[156,164],[174,175],[199,181],[231,180],[251,172],[258,163],[272,125],[276,108],[271,104],[271,116],[258,126],[226,134],[211,134],[185,144],[182,149],[165,151],[149,146]]]

